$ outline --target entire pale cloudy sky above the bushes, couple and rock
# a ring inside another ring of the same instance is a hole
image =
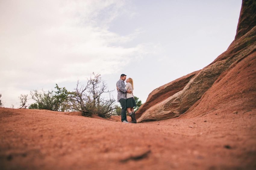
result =
[[[242,0],[0,0],[0,94],[66,87],[120,74],[134,95],[202,69],[234,40]],[[114,96],[117,92],[114,91]],[[30,103],[33,101],[30,100]]]

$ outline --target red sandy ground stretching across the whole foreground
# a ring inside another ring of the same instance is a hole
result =
[[[0,169],[256,169],[255,120],[256,109],[122,124],[0,108]]]

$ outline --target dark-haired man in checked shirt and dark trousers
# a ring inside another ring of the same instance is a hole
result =
[[[130,90],[125,89],[125,83],[126,75],[121,74],[120,80],[117,81],[117,88],[119,89],[117,91],[117,101],[122,106],[122,112],[121,112],[121,121],[123,123],[129,123],[126,119],[126,93],[132,93]]]

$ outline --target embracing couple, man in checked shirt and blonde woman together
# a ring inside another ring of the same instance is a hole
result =
[[[136,106],[136,102],[133,97],[133,79],[128,78],[126,80],[126,85],[124,83],[125,80],[126,75],[121,74],[120,80],[117,81],[117,101],[122,106],[121,121],[123,123],[129,123],[126,119],[127,110],[128,114],[132,118],[132,121],[130,123],[136,123],[135,112],[133,110],[133,107]]]

